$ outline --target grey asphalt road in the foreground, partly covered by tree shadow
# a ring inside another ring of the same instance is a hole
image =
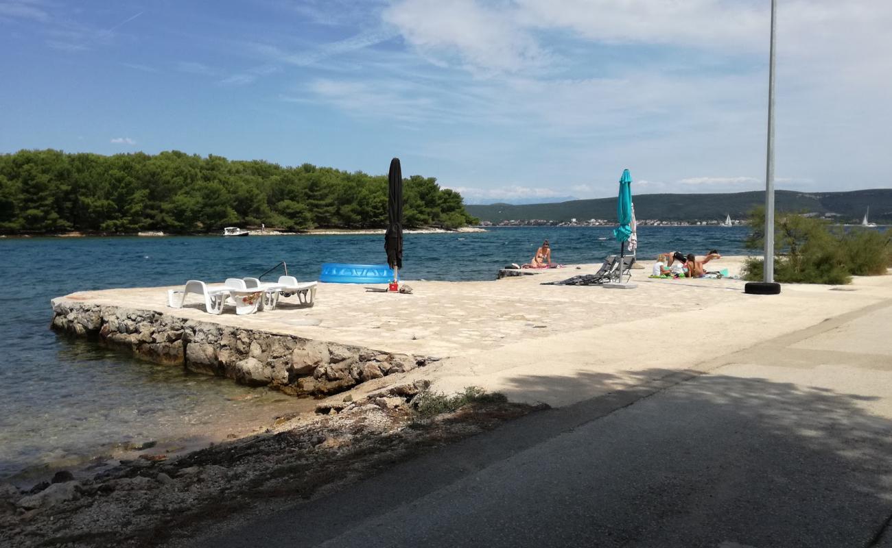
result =
[[[200,544],[892,546],[892,344],[858,339],[888,304],[707,374],[642,372]]]

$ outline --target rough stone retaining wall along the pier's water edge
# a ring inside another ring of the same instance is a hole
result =
[[[155,363],[292,396],[324,397],[437,360],[74,299],[53,300],[55,330],[96,337]]]

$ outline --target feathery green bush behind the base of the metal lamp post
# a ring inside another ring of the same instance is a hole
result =
[[[764,209],[750,217],[750,249],[764,248]],[[805,215],[781,214],[774,221],[774,280],[787,283],[845,284],[852,275],[885,274],[892,258],[887,233],[853,227],[846,231],[828,221]],[[761,280],[763,260],[748,258],[742,275]]]

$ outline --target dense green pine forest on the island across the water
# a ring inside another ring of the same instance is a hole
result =
[[[434,177],[404,179],[407,227],[473,224]],[[387,176],[180,151],[0,154],[2,233],[202,233],[224,226],[382,228]]]

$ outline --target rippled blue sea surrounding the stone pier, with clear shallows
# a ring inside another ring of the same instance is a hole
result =
[[[713,248],[744,254],[746,233],[645,226],[639,256]],[[401,278],[491,280],[500,266],[528,261],[546,238],[558,263],[591,263],[618,250],[608,227],[407,234]],[[58,335],[49,329],[50,299],[76,290],[256,276],[282,260],[289,274],[314,280],[322,263],[384,259],[383,235],[0,240],[7,283],[0,292],[0,478],[72,466],[127,442],[156,439],[163,449],[211,439],[307,405]]]

